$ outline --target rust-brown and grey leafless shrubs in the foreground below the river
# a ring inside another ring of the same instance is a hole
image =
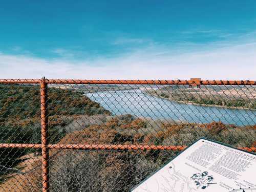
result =
[[[232,146],[252,146],[255,126],[238,127],[221,122],[158,123],[116,116],[63,137],[72,144],[188,145],[204,136]],[[178,152],[174,151],[74,151],[51,150],[51,191],[129,191]],[[40,167],[40,161],[34,166]],[[41,174],[26,175],[27,190],[40,191]]]

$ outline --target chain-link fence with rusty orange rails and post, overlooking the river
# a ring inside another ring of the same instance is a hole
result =
[[[0,191],[129,191],[201,137],[256,152],[255,88],[0,80]]]

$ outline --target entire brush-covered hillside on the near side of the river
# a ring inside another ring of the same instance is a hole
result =
[[[39,87],[0,85],[0,94],[1,142],[40,143]],[[77,90],[51,87],[48,95],[50,143],[189,145],[205,137],[236,147],[255,145],[255,125],[174,123],[132,115],[111,116],[109,111]],[[179,96],[175,98],[178,100]],[[19,191],[41,191],[41,159],[34,156],[35,150],[0,150],[0,166],[20,165],[19,157],[26,154],[33,159],[26,162],[29,172],[13,174],[11,179],[6,178],[7,170],[0,168],[2,184],[11,189],[21,186]],[[177,153],[51,149],[50,191],[129,191]]]

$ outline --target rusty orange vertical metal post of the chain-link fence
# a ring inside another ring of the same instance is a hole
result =
[[[41,79],[40,96],[41,96],[42,191],[49,192],[47,82],[45,77],[42,77]]]

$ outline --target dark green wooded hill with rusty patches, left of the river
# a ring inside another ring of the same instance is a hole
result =
[[[40,87],[0,85],[0,122],[40,118]],[[49,115],[109,113],[79,91],[49,88]]]

